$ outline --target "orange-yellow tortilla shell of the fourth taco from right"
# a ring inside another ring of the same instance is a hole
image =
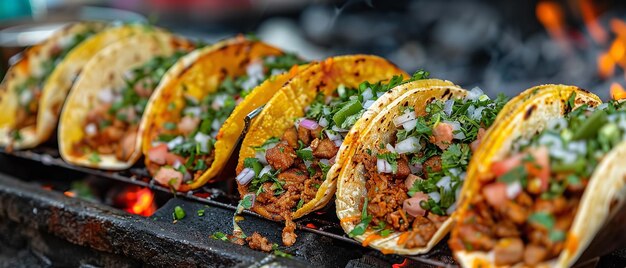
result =
[[[144,113],[147,117],[139,129],[143,137],[143,153],[146,154],[153,147],[152,141],[160,133],[164,122],[180,120],[180,110],[185,103],[184,94],[201,100],[204,96],[216,92],[226,76],[245,74],[247,63],[265,56],[282,54],[280,49],[263,42],[237,37],[195,50],[181,58],[150,98]],[[179,191],[196,189],[217,179],[216,176],[226,165],[243,131],[243,120],[246,115],[269,100],[285,81],[297,73],[297,70],[298,67],[286,74],[268,79],[237,105],[218,132],[214,145],[214,161],[207,163],[209,168],[191,184],[183,183]],[[176,108],[168,110],[170,103],[174,103]],[[145,158],[145,162],[146,165],[150,165],[148,157]]]

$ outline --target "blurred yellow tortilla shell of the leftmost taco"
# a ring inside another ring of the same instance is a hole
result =
[[[0,107],[2,107],[2,113],[0,114],[0,146],[5,146],[12,149],[32,148],[38,144],[47,140],[50,134],[56,127],[56,120],[58,114],[65,100],[65,95],[69,86],[65,90],[57,90],[55,87],[59,69],[67,65],[68,59],[72,61],[72,52],[84,46],[96,35],[79,43],[70,52],[61,59],[61,63],[55,66],[54,71],[44,77],[41,89],[41,97],[39,99],[37,108],[37,120],[35,125],[27,126],[19,129],[21,136],[20,140],[15,140],[11,133],[16,131],[17,122],[15,121],[18,109],[22,109],[19,106],[19,97],[17,88],[21,86],[27,79],[42,75],[42,64],[51,60],[50,54],[62,47],[64,44],[71,42],[73,38],[79,35],[89,32],[100,32],[108,27],[106,23],[101,22],[83,22],[71,24],[64,29],[55,32],[51,37],[44,40],[38,45],[30,47],[23,52],[22,57],[8,70],[2,84],[0,84]],[[82,64],[80,65],[82,66]],[[73,76],[68,77],[71,84]],[[57,96],[59,95],[59,96]],[[49,99],[58,98],[60,102],[53,102]]]

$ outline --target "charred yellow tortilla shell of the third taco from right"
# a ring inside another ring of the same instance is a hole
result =
[[[357,88],[364,81],[376,83],[386,81],[394,75],[408,77],[405,72],[387,60],[369,55],[339,56],[311,64],[309,68],[302,70],[289,80],[265,105],[263,111],[252,123],[239,151],[237,172],[243,169],[244,159],[254,157],[253,146],[259,146],[271,137],[282,136],[289,127],[293,126],[294,119],[304,116],[305,107],[313,102],[318,92],[331,95],[340,84],[348,88]],[[361,125],[373,117],[377,113],[376,110],[382,109],[388,101],[389,99],[381,97],[370,107],[371,112],[364,114],[352,129],[360,129]],[[354,135],[358,136],[358,134],[353,134],[353,137]],[[344,141],[341,148],[344,151],[349,150],[344,149],[347,147],[345,144]],[[338,152],[338,155],[342,155],[342,152]],[[328,178],[330,177],[328,175]],[[313,200],[292,214],[293,219],[324,206],[332,199],[335,183],[334,180],[327,179],[326,181],[320,186]],[[248,186],[238,185],[238,189],[241,196],[248,192]],[[281,215],[272,215],[258,204],[255,204],[252,210],[271,220],[284,220]]]

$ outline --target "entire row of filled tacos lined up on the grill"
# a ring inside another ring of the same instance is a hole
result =
[[[571,86],[509,101],[428,76],[377,56],[306,62],[241,36],[199,45],[76,23],[9,70],[0,145],[35,147],[59,121],[67,162],[122,170],[143,156],[178,191],[227,178],[238,156],[244,207],[284,221],[285,245],[336,196],[346,233],[383,253],[426,253],[451,233],[463,266],[572,265],[624,199],[626,108]]]

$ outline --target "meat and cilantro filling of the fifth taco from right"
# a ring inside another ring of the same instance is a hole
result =
[[[89,154],[92,162],[99,162],[99,154],[113,153],[118,160],[127,161],[134,152],[139,121],[150,95],[161,77],[185,53],[154,57],[126,72],[126,85],[120,90],[100,90],[95,107],[83,122],[85,135],[73,144],[72,152],[78,156]]]

